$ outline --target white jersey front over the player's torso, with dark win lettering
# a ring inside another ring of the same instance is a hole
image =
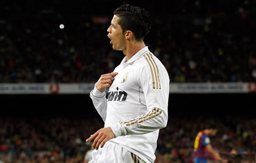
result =
[[[146,113],[146,102],[138,82],[138,64],[123,63],[116,67],[114,72],[118,72],[115,80],[108,90],[107,120],[111,116],[111,123],[135,118]],[[117,119],[115,119],[117,118]]]

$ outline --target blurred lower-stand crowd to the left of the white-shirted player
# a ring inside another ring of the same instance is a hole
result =
[[[0,120],[0,162],[82,162],[99,119]]]

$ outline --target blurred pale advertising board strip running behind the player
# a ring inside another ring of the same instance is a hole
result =
[[[89,94],[94,83],[2,83],[0,94]],[[170,93],[251,93],[256,83],[170,83]]]

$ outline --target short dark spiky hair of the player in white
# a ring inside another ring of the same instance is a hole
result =
[[[114,11],[114,15],[120,18],[118,23],[123,33],[126,30],[132,31],[135,39],[138,41],[143,40],[150,31],[151,20],[149,12],[144,8],[123,4]]]

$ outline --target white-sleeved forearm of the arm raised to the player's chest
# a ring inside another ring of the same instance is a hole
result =
[[[95,109],[98,111],[99,115],[105,122],[107,116],[107,99],[105,92],[99,92],[97,89],[91,91],[90,97],[92,99]]]

